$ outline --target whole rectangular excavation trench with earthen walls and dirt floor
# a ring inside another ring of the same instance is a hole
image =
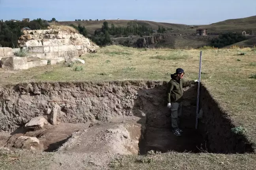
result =
[[[112,81],[28,83],[0,88],[0,147],[23,147],[17,139],[36,137],[46,152],[145,154],[161,152],[254,152],[207,89],[200,88],[200,119],[195,129],[197,86],[184,88],[183,135],[171,132],[167,82]],[[24,128],[29,120],[58,108],[58,124]],[[29,145],[30,146],[30,145]]]

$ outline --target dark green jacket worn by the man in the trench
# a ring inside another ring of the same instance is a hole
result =
[[[183,87],[186,87],[188,85],[194,84],[194,80],[187,80],[180,79],[180,81],[177,81],[174,78],[174,75],[171,74],[171,80],[168,83],[167,87],[167,101],[168,103],[171,102],[182,102],[183,100]]]

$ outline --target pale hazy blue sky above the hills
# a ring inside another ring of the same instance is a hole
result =
[[[138,19],[210,24],[256,15],[256,0],[0,0],[0,19]]]

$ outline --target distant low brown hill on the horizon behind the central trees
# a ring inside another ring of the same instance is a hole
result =
[[[95,30],[100,29],[103,25],[103,22],[107,21],[109,24],[109,27],[111,24],[114,24],[116,27],[121,26],[128,26],[128,22],[136,22],[137,24],[145,25],[145,26],[151,26],[153,29],[158,29],[158,26],[163,26],[164,28],[172,28],[174,30],[181,30],[185,28],[189,28],[190,26],[184,25],[184,24],[171,24],[171,23],[164,23],[164,22],[154,22],[154,21],[145,21],[145,20],[98,20],[98,21],[63,21],[58,22],[61,25],[70,25],[73,24],[75,26],[78,26],[78,24],[81,24],[81,26],[85,26],[87,28],[89,33],[94,33]]]

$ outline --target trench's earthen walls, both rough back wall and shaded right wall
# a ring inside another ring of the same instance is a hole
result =
[[[115,116],[134,115],[141,117],[138,123],[167,128],[170,120],[164,115],[168,113],[166,87],[167,82],[164,81],[38,82],[0,87],[0,130],[14,131],[31,118],[49,115],[56,105],[60,107],[57,117],[60,122],[108,122]],[[184,91],[183,124],[189,125],[186,128],[194,128],[196,86]],[[253,152],[246,137],[231,132],[230,118],[226,117],[204,85],[200,90],[200,109],[203,116],[199,130],[209,151]]]

